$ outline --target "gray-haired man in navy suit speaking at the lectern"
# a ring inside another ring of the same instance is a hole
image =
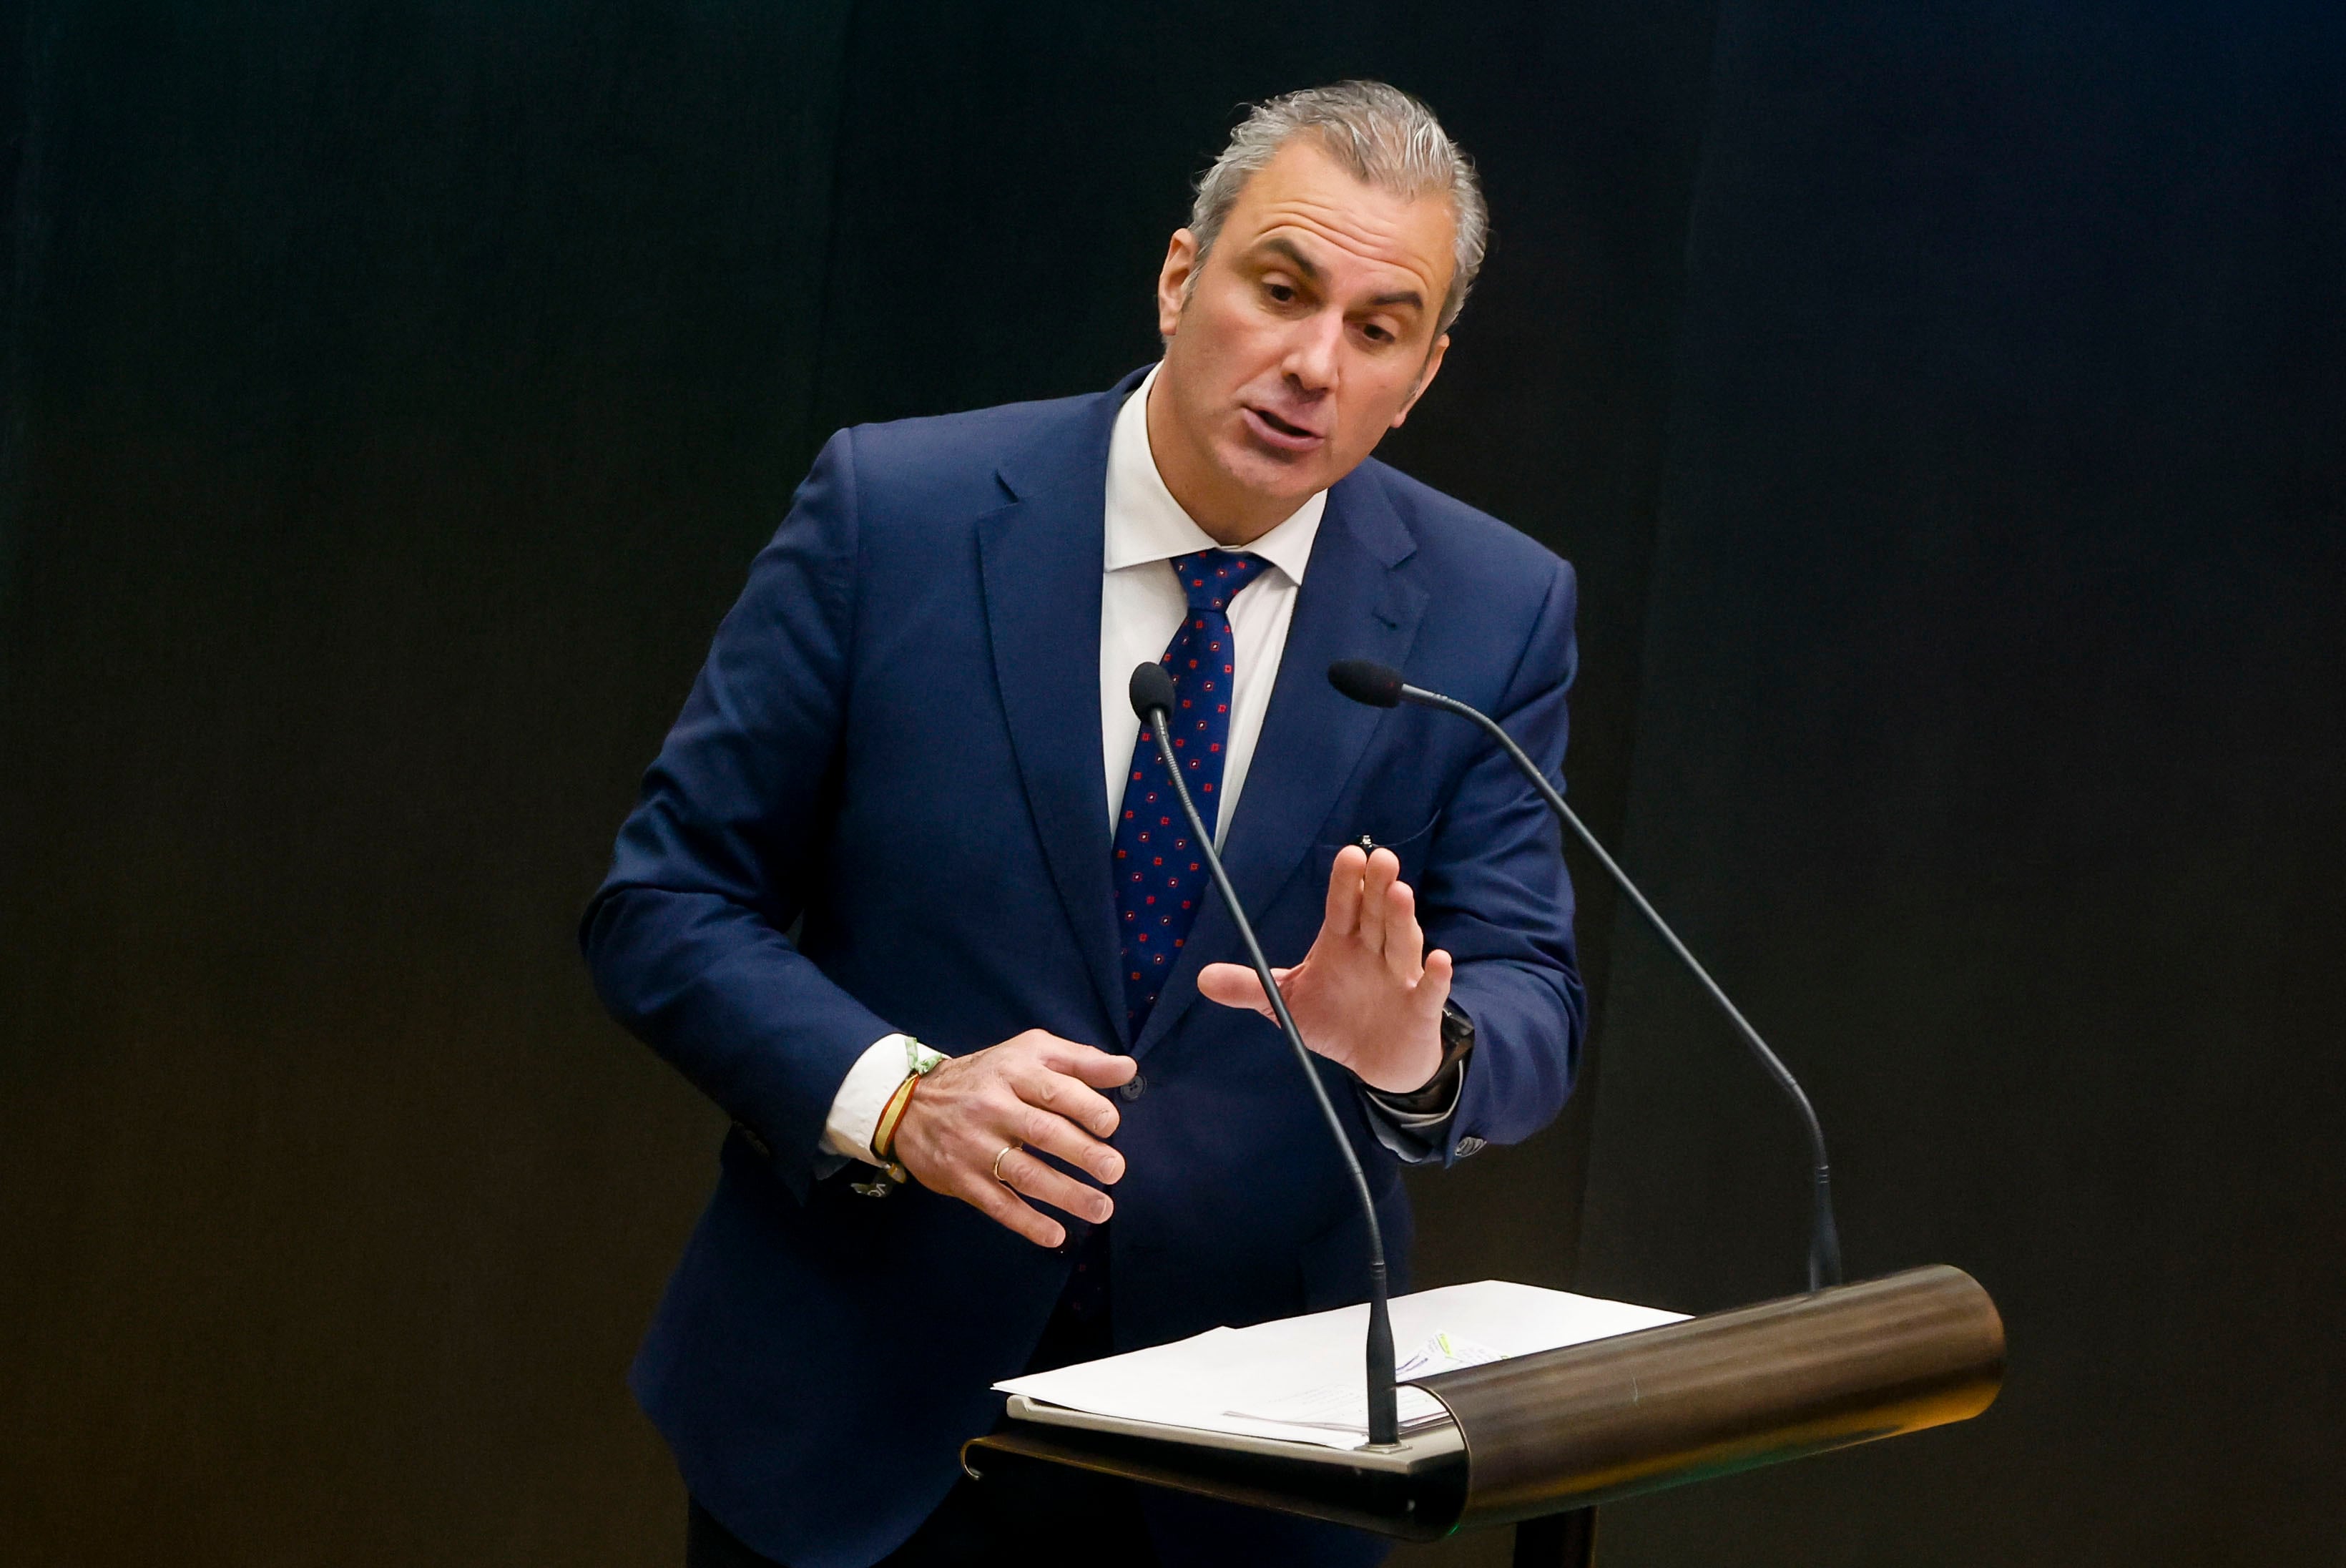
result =
[[[1372,82],[1260,106],[1105,394],[840,432],[758,556],[582,941],[732,1120],[633,1387],[687,1559],[1368,1563],[1368,1537],[1074,1472],[960,1481],[990,1385],[1365,1296],[1365,1225],[1124,683],[1192,789],[1386,1237],[1403,1162],[1544,1127],[1584,1023],[1539,798],[1572,570],[1370,460],[1483,256],[1473,169]],[[795,932],[793,932],[795,927]],[[1201,1005],[1203,998],[1203,1005]]]

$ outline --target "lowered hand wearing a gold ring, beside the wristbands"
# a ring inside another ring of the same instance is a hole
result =
[[[1131,1056],[1030,1028],[929,1073],[896,1124],[891,1153],[931,1192],[960,1197],[1037,1246],[1058,1246],[1067,1228],[1028,1207],[1028,1197],[1093,1225],[1117,1207],[1037,1150],[1112,1185],[1124,1176],[1124,1155],[1100,1138],[1121,1117],[1100,1089],[1131,1077]]]

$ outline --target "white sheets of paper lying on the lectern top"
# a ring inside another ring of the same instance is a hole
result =
[[[1396,1296],[1391,1312],[1394,1371],[1401,1378],[1527,1357],[1684,1317],[1499,1279]],[[1368,1307],[1337,1307],[1253,1329],[1211,1329],[995,1387],[1093,1415],[1361,1448],[1368,1444],[1368,1394],[1361,1385],[1365,1336]],[[1440,1418],[1433,1394],[1401,1390],[1403,1432]]]

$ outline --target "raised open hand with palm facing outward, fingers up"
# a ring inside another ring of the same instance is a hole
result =
[[[1410,1094],[1443,1063],[1443,1002],[1450,953],[1426,953],[1417,894],[1391,850],[1337,850],[1328,871],[1328,913],[1311,951],[1293,969],[1272,969],[1304,1045],[1351,1068],[1370,1089]],[[1222,1007],[1272,1016],[1262,981],[1246,965],[1206,965],[1196,991]]]

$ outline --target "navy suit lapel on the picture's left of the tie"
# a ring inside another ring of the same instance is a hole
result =
[[[1089,399],[1074,432],[1056,427],[1004,462],[1002,484],[1018,500],[978,519],[985,624],[1018,777],[1100,1016],[1119,1042],[1124,986],[1100,763],[1100,559],[1107,434],[1124,392],[1128,385]]]

